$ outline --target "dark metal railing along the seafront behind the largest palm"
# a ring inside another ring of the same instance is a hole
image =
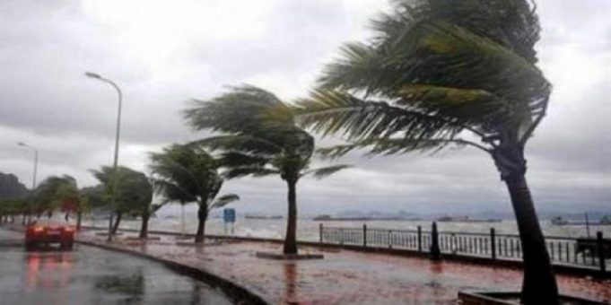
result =
[[[417,230],[383,230],[368,228],[325,227],[319,224],[319,242],[364,248],[405,249],[428,252],[433,234]],[[522,258],[519,235],[440,231],[437,242],[441,254],[482,257],[492,260],[517,260]],[[607,272],[606,259],[611,258],[611,240],[603,239],[602,232],[596,238],[569,238],[546,236],[546,247],[555,265],[585,266]]]

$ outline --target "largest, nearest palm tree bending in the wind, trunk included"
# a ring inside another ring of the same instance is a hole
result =
[[[369,43],[347,44],[302,122],[344,133],[371,153],[470,146],[493,158],[508,187],[523,249],[521,298],[557,303],[558,290],[528,189],[524,148],[546,115],[551,85],[537,68],[535,7],[526,0],[396,1]]]

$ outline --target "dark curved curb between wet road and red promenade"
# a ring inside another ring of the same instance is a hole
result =
[[[196,280],[205,282],[214,288],[220,288],[221,291],[235,304],[240,304],[240,305],[241,304],[243,305],[259,305],[259,304],[267,305],[269,304],[268,302],[264,301],[260,296],[258,296],[257,294],[253,292],[250,292],[248,289],[241,287],[240,285],[233,283],[227,279],[224,279],[221,276],[218,276],[216,274],[211,274],[209,272],[206,272],[202,269],[199,269],[193,266],[179,264],[175,261],[171,261],[171,260],[164,259],[161,257],[154,257],[152,255],[129,250],[127,248],[118,248],[118,247],[100,244],[100,243],[93,242],[93,241],[87,241],[87,240],[74,240],[74,241],[78,244],[91,246],[91,247],[97,247],[97,248],[103,248],[105,250],[120,252],[120,253],[132,255],[135,257],[141,257],[144,259],[148,259],[148,260],[152,260],[154,262],[160,263],[161,265],[167,266],[171,270],[179,274],[187,275]]]

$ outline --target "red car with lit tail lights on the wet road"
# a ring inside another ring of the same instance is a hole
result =
[[[53,221],[34,221],[25,229],[25,248],[31,251],[39,245],[59,244],[60,249],[74,247],[74,226]]]

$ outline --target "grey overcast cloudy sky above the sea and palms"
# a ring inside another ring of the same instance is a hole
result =
[[[554,84],[549,114],[528,144],[528,179],[541,210],[611,211],[611,1],[539,0],[540,66]],[[0,171],[29,184],[69,174],[81,186],[112,161],[116,92],[125,93],[119,161],[147,171],[148,153],[202,136],[179,115],[190,98],[251,83],[285,100],[307,94],[348,40],[371,34],[382,0],[3,0],[0,2]],[[303,179],[304,213],[510,211],[483,153],[366,159],[326,180]],[[241,211],[284,213],[279,178],[224,191]]]

